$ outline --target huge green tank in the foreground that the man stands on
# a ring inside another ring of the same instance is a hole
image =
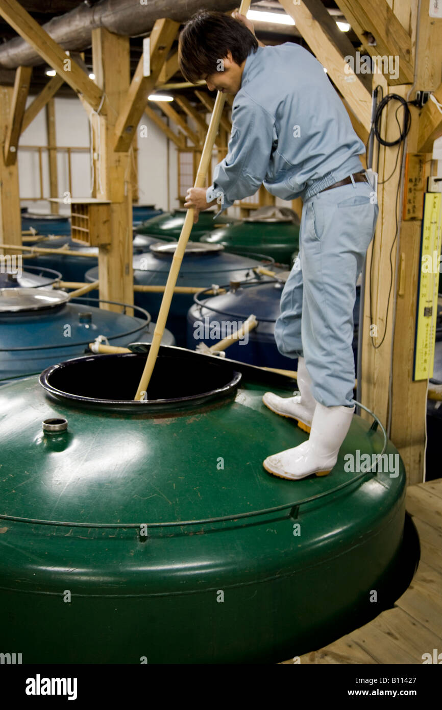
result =
[[[87,356],[0,390],[1,652],[277,662],[402,594],[402,461],[344,470],[347,452],[397,454],[370,421],[328,476],[277,479],[263,459],[306,435],[261,398],[293,381],[162,346],[134,402],[144,364]]]

